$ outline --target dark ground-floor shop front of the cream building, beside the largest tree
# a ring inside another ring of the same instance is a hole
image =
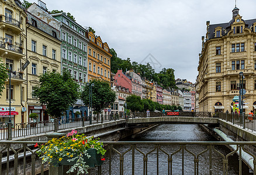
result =
[[[36,113],[39,118],[38,121],[49,121],[49,115],[46,113],[46,106],[29,106],[28,107],[29,114]]]

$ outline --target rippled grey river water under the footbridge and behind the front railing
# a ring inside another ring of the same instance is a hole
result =
[[[204,132],[198,125],[193,124],[167,124],[158,125],[152,129],[149,129],[143,134],[137,135],[135,138],[126,138],[122,141],[216,141],[215,138]],[[125,152],[130,148],[129,145],[122,145],[115,147],[119,152]],[[138,148],[146,153],[153,149],[153,145],[143,146],[138,145]],[[188,145],[187,148],[193,153],[199,153],[206,149],[203,145]],[[225,146],[216,146],[216,150],[227,155],[230,152]],[[163,150],[167,153],[172,153],[179,149],[178,145],[163,146]],[[106,153],[106,162],[102,165],[102,174],[109,174],[108,170],[108,152]],[[185,152],[184,159],[184,174],[194,174],[193,157]],[[164,153],[160,153],[159,156],[159,174],[168,174],[167,156]],[[223,162],[222,157],[213,152],[212,155],[212,174],[223,174]],[[182,174],[182,153],[179,152],[173,157],[172,174]],[[243,175],[252,174],[249,173],[249,169],[243,163]],[[229,174],[238,174],[239,163],[238,156],[234,154],[229,157]],[[112,174],[119,174],[119,155],[112,153]],[[132,174],[132,153],[131,151],[124,155],[124,174]],[[143,156],[136,151],[135,153],[135,174],[143,174]],[[148,174],[157,174],[156,169],[156,151],[148,155]],[[203,153],[199,156],[199,174],[209,174],[209,152]]]

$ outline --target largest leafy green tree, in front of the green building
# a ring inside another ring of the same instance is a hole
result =
[[[47,105],[48,113],[54,118],[60,117],[79,98],[79,85],[67,70],[63,74],[46,72],[39,76],[39,82],[32,95]]]

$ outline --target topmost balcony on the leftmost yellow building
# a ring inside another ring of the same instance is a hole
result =
[[[12,31],[16,34],[24,31],[20,28],[20,22],[12,17],[7,17],[4,15],[0,15],[0,28],[1,29],[12,29]]]

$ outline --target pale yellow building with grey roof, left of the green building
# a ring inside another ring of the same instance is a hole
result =
[[[40,20],[44,18],[44,21]],[[47,20],[48,19],[48,20]],[[32,96],[39,84],[39,75],[47,71],[61,72],[60,22],[41,10],[36,3],[27,9],[27,111],[37,113],[39,121],[48,121],[46,106]]]

